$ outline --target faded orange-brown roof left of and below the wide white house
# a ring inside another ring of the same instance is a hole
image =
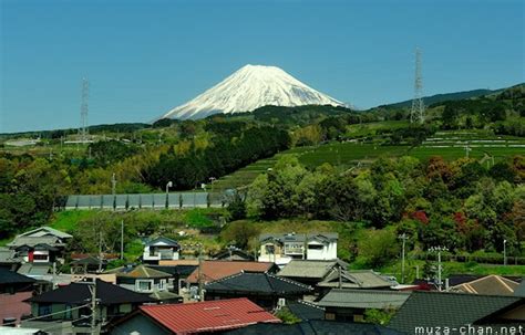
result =
[[[267,262],[244,262],[244,261],[203,261],[202,279],[206,282],[213,282],[225,276],[239,273],[240,271],[267,272],[274,268],[274,263]],[[198,282],[198,268],[188,275],[188,283]]]

